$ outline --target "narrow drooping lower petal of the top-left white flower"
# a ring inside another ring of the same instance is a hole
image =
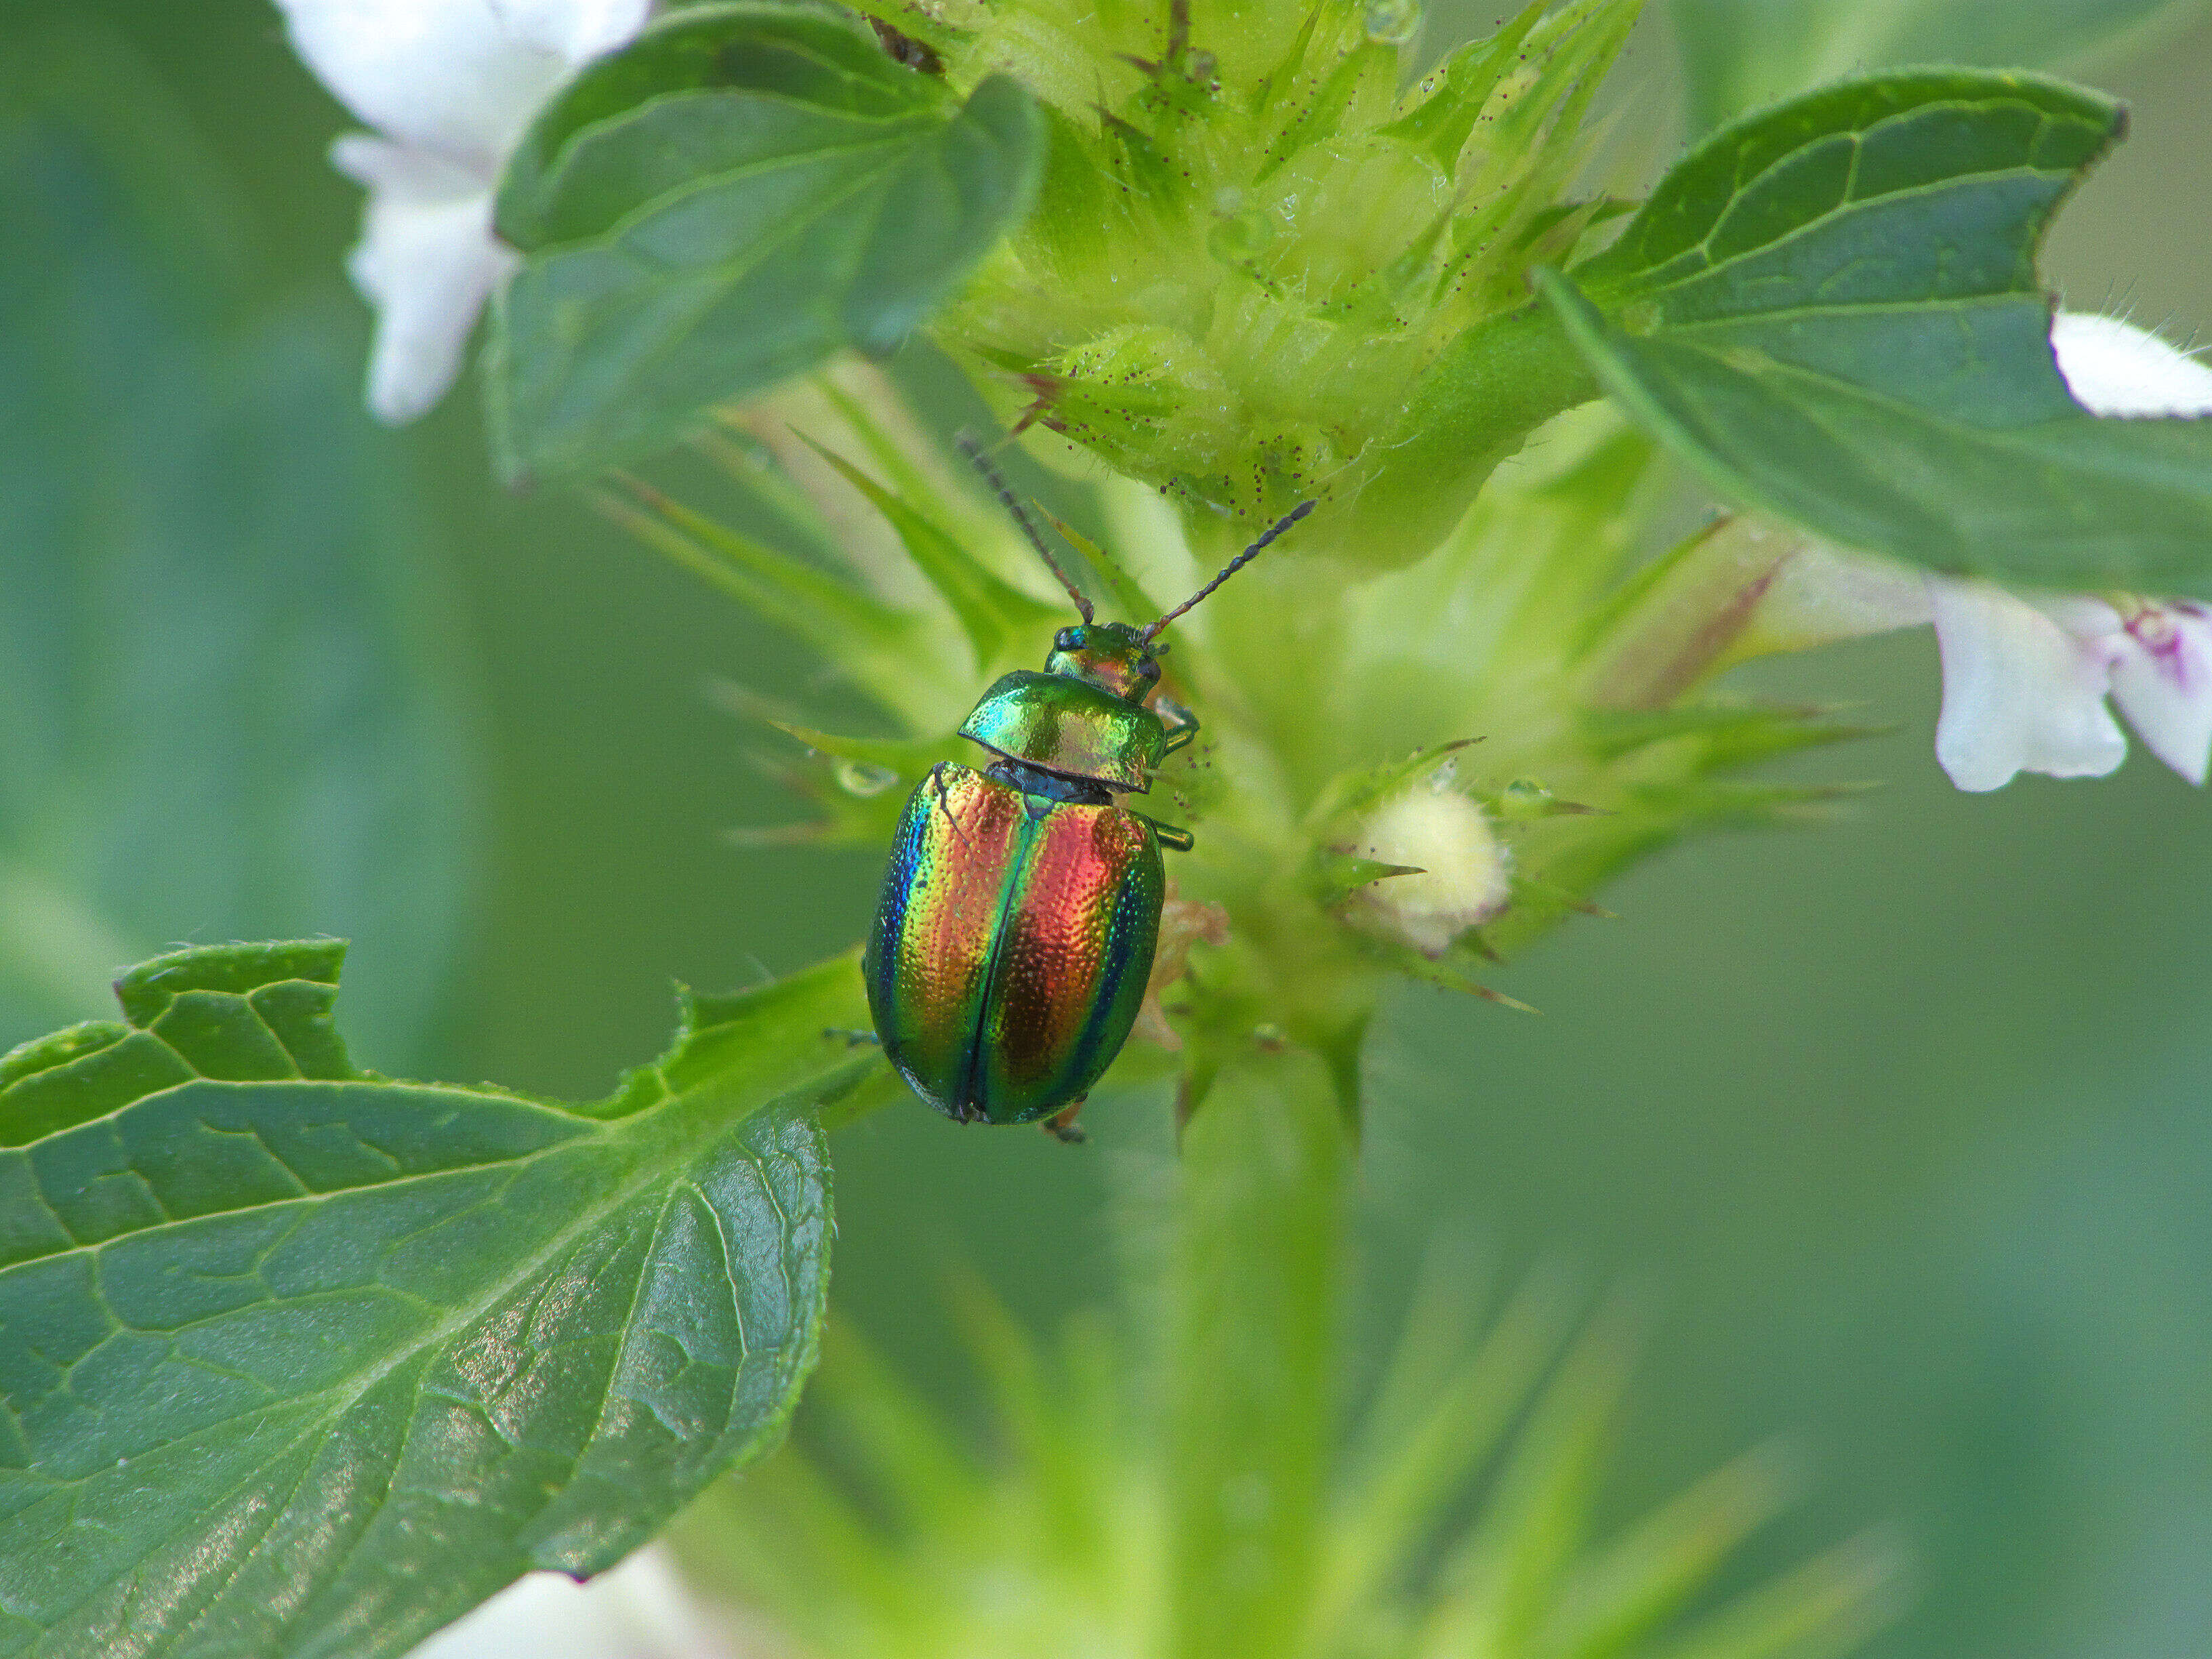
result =
[[[467,168],[365,133],[341,137],[330,159],[369,188],[345,268],[376,305],[369,411],[400,425],[453,385],[469,330],[515,254],[491,234],[491,188]]]

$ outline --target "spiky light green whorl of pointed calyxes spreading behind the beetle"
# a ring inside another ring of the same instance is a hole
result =
[[[763,770],[818,807],[812,821],[745,832],[750,845],[883,847],[931,765],[973,759],[953,728],[993,675],[1040,659],[1055,617],[1055,606],[1009,582],[1024,571],[1040,582],[1044,571],[1006,513],[945,471],[889,387],[876,385],[860,409],[825,385],[834,396],[785,394],[772,414],[805,420],[801,431],[832,431],[838,447],[792,442],[785,465],[814,465],[825,515],[830,500],[883,513],[920,604],[863,597],[860,582],[770,553],[644,487],[633,491],[639,507],[624,509],[655,544],[814,644],[894,730],[909,732],[823,730],[783,697],[728,688],[734,712],[781,734],[759,757]],[[898,487],[845,462],[841,449],[865,449]],[[1201,732],[1161,768],[1152,799],[1199,836],[1197,852],[1175,860],[1181,896],[1230,918],[1228,947],[1170,1000],[1190,1035],[1181,1064],[1192,1097],[1210,1066],[1252,1064],[1250,1033],[1272,1026],[1323,1057],[1356,1115],[1358,1046],[1387,978],[1520,1006],[1484,982],[1489,967],[1595,909],[1586,894],[1604,878],[1692,830],[1801,823],[1847,794],[1730,776],[1863,728],[1823,710],[1699,695],[1790,544],[1725,526],[1635,566],[1657,500],[1652,458],[1646,438],[1590,407],[1557,422],[1542,456],[1515,460],[1413,568],[1332,593],[1323,606],[1301,586],[1307,571],[1270,555],[1175,630],[1168,695],[1197,712]],[[858,520],[843,526],[847,546],[865,540]],[[1172,531],[1170,520],[1168,542]],[[1159,542],[1117,549],[1148,562],[1141,582],[1117,575],[1117,591],[1144,599],[1192,588],[1188,553]],[[1077,546],[1093,566],[1119,571],[1088,538]],[[841,628],[836,617],[854,604],[867,606],[869,626]],[[1327,697],[1314,695],[1307,672],[1285,672],[1287,628],[1301,666],[1325,672]],[[894,637],[907,641],[902,653],[887,650]],[[1228,787],[1217,757],[1256,752],[1279,765]],[[1405,874],[1356,847],[1365,818],[1407,787],[1480,803],[1515,872],[1506,909],[1442,958],[1376,938],[1345,907],[1356,889]]]

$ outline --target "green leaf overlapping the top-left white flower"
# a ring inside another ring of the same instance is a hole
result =
[[[841,347],[896,347],[1018,221],[1042,131],[843,13],[697,7],[575,80],[500,192],[529,259],[493,341],[509,473],[666,447]]]

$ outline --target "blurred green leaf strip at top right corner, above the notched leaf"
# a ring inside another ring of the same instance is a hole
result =
[[[1692,128],[1898,64],[2086,69],[2205,13],[2205,0],[1672,0]]]

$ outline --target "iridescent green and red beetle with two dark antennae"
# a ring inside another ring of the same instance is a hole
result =
[[[1075,1113],[1121,1053],[1152,973],[1159,849],[1192,845],[1117,801],[1146,794],[1161,759],[1199,732],[1188,712],[1164,721],[1150,706],[1166,650],[1152,641],[1314,504],[1139,630],[1093,617],[982,451],[967,438],[962,449],[1084,622],[1060,630],[1042,675],[1015,670],[975,703],[960,734],[991,763],[938,765],[909,796],[867,940],[867,1006],[891,1064],[947,1117],[1042,1117],[1082,1139]]]

